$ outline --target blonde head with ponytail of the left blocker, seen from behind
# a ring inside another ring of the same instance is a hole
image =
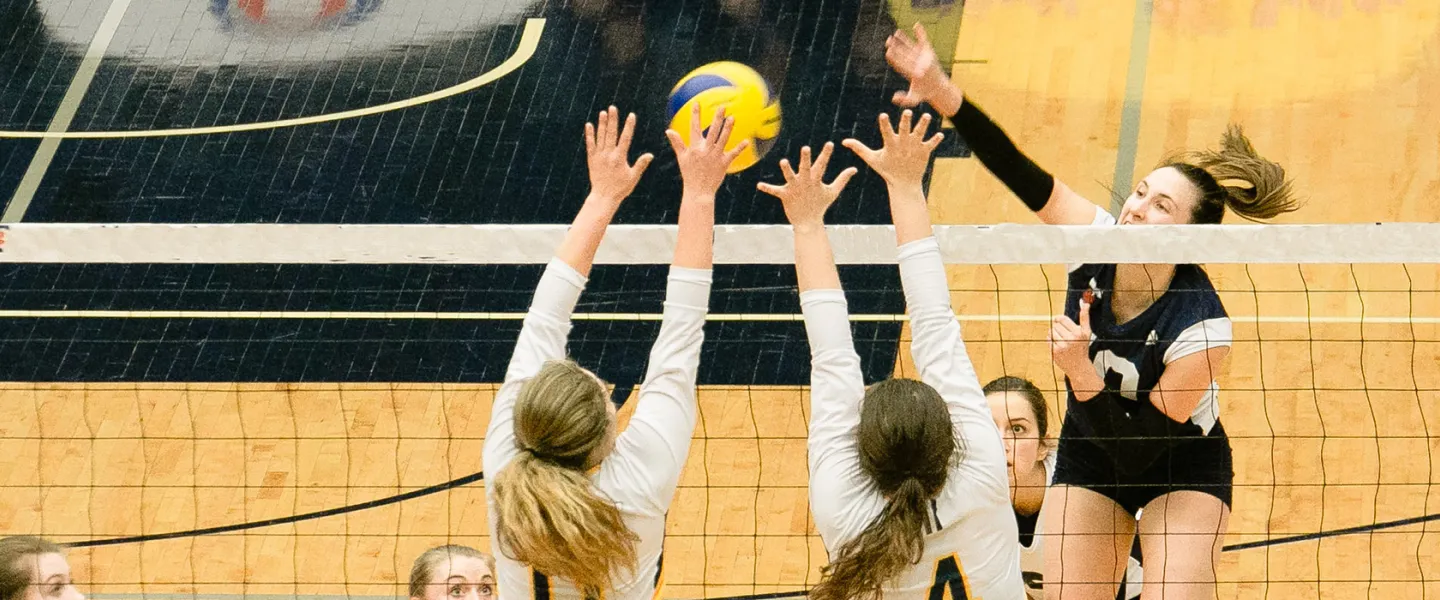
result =
[[[615,404],[593,373],[552,361],[520,388],[520,450],[492,481],[505,555],[599,594],[635,568],[638,537],[586,472],[615,447]]]

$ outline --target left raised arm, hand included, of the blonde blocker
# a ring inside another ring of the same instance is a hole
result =
[[[586,196],[570,230],[560,242],[554,259],[540,276],[530,301],[530,311],[526,312],[524,324],[520,327],[520,338],[505,370],[505,381],[495,393],[490,409],[482,456],[485,472],[500,472],[514,458],[514,406],[520,386],[534,377],[547,361],[564,358],[570,314],[575,312],[575,304],[585,289],[605,229],[654,158],[645,154],[631,165],[626,157],[631,135],[635,132],[635,115],[625,119],[624,131],[619,131],[618,125],[619,114],[615,106],[600,112],[598,125],[585,124],[590,194]]]

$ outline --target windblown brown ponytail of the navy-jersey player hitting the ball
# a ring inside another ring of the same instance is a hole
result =
[[[1220,223],[1228,207],[1248,220],[1273,219],[1300,207],[1284,167],[1256,153],[1240,125],[1230,125],[1220,151],[1185,153],[1168,161],[1200,188],[1191,223]]]

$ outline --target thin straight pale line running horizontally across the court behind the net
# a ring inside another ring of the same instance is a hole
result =
[[[575,321],[660,321],[660,312],[577,312]],[[89,319],[392,319],[392,321],[524,321],[524,312],[400,312],[400,311],[0,311],[0,318],[89,318]],[[956,315],[962,322],[1050,322],[1054,315]],[[854,322],[899,322],[906,315],[855,314]],[[1233,315],[1233,322],[1259,324],[1365,324],[1436,325],[1440,317],[1283,317]],[[706,321],[805,321],[799,314],[711,314]]]

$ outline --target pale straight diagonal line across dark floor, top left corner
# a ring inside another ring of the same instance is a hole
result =
[[[99,71],[99,63],[105,58],[109,40],[115,37],[115,30],[120,29],[120,20],[125,17],[127,9],[130,9],[130,0],[114,0],[109,3],[109,10],[105,12],[105,19],[99,22],[99,29],[95,30],[95,37],[91,39],[91,46],[85,50],[85,58],[81,59],[81,66],[75,71],[75,78],[71,79],[69,89],[60,98],[60,108],[55,111],[55,117],[50,119],[50,127],[46,131],[58,132],[71,128],[71,122],[75,121],[75,112],[79,111],[81,101],[85,99],[85,92],[89,91],[91,83],[95,81],[95,72]],[[24,220],[24,212],[30,209],[30,201],[35,200],[35,193],[40,188],[40,180],[45,178],[45,171],[50,168],[50,161],[55,160],[55,151],[59,147],[59,138],[40,140],[40,147],[35,150],[35,157],[30,158],[30,167],[24,170],[20,186],[16,187],[14,196],[10,197],[10,203],[4,207],[4,214],[0,216],[0,223],[19,223]]]

